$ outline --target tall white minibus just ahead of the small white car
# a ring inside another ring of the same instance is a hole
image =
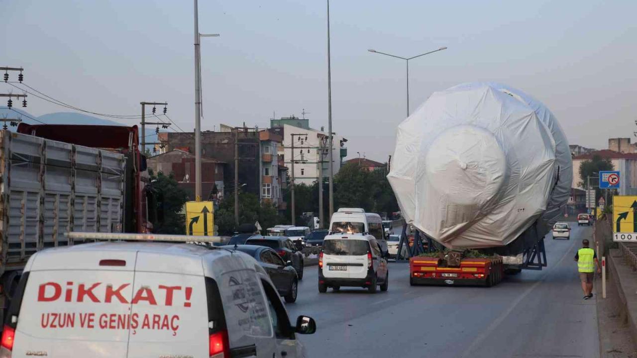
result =
[[[366,213],[361,208],[340,208],[332,214],[330,234],[370,234],[374,236],[384,257],[389,257],[383,220],[376,213]]]

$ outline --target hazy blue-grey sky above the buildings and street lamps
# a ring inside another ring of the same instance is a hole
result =
[[[2,0],[0,9],[0,66],[24,67],[31,87],[118,115],[168,101],[172,120],[193,130],[192,2]],[[494,81],[545,103],[571,144],[634,138],[635,13],[632,0],[332,0],[333,130],[348,157],[386,161],[406,117],[405,66],[368,48],[410,57],[448,47],[410,61],[412,111],[436,90]],[[326,31],[326,1],[199,1],[199,32],[221,35],[202,39],[202,129],[267,127],[303,110],[327,128]],[[35,97],[27,110],[68,111]]]

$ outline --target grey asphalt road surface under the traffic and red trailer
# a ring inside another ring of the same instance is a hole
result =
[[[388,292],[319,294],[306,268],[292,320],[309,315],[317,333],[299,336],[308,357],[598,357],[596,297],[587,301],[573,261],[582,238],[547,236],[548,267],[507,276],[496,287],[411,287],[408,264],[390,262]]]

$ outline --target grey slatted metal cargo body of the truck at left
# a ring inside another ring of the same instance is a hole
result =
[[[64,233],[122,231],[124,174],[122,154],[0,131],[3,308],[32,254],[74,244]]]

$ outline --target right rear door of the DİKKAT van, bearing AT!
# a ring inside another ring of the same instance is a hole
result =
[[[128,357],[208,357],[208,302],[201,259],[139,252]],[[212,304],[221,304],[212,303]]]

